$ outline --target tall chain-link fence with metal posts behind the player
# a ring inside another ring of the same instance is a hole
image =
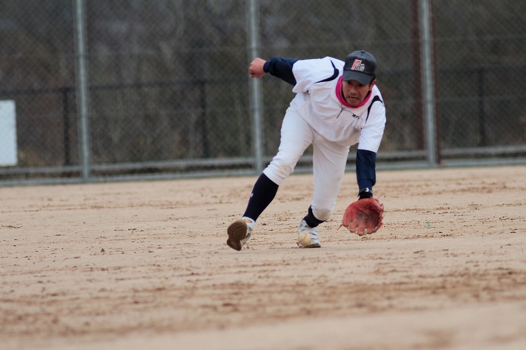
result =
[[[252,56],[356,49],[376,56],[387,108],[378,168],[526,162],[524,2],[0,3],[4,184],[256,173],[294,95],[251,84]]]

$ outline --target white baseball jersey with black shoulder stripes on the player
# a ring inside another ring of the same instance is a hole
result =
[[[290,102],[321,136],[342,146],[377,152],[386,125],[386,109],[375,85],[357,107],[341,96],[343,61],[332,58],[298,60],[292,67],[296,97]],[[338,96],[339,94],[339,96]]]

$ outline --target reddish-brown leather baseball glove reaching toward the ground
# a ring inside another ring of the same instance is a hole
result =
[[[383,204],[378,199],[360,199],[347,207],[341,226],[360,236],[371,234],[382,227],[382,213]]]

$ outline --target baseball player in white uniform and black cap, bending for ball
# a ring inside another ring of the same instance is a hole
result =
[[[241,250],[281,182],[312,144],[314,193],[298,227],[298,244],[319,248],[318,225],[335,209],[349,146],[356,143],[358,196],[372,197],[376,152],[386,124],[386,109],[376,86],[376,59],[363,50],[349,54],[345,62],[332,57],[256,58],[249,72],[252,78],[269,73],[285,80],[294,86],[296,97],[282,122],[278,153],[256,181],[243,217],[228,227],[227,244]]]

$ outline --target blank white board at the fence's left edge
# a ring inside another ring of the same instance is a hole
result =
[[[0,101],[0,167],[14,166],[16,157],[15,101]]]

